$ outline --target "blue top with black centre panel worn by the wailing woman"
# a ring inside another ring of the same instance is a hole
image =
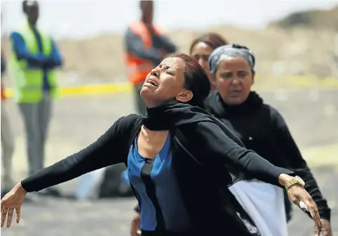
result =
[[[128,178],[137,194],[142,230],[188,232],[191,223],[173,170],[170,136],[154,159],[142,157],[137,138],[128,155]]]

